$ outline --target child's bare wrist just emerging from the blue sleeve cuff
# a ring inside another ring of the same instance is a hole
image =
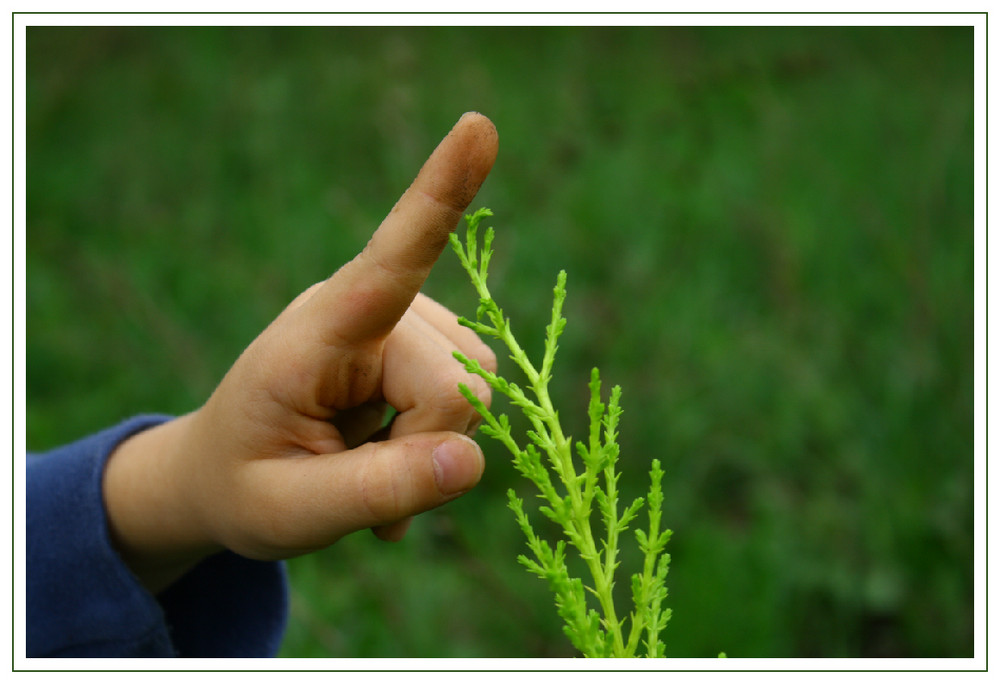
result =
[[[157,593],[221,550],[199,522],[185,485],[185,446],[194,414],[125,440],[104,471],[108,531],[122,559]]]

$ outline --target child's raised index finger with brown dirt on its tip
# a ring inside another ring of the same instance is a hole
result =
[[[356,343],[386,335],[420,291],[497,155],[493,122],[468,112],[445,136],[357,257],[311,298],[326,337]]]

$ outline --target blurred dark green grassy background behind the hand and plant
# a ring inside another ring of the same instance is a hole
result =
[[[497,299],[538,352],[567,269],[564,420],[598,365],[626,495],[664,463],[668,655],[971,657],[972,38],[29,28],[29,448],[197,407],[479,110]],[[572,655],[480,441],[403,542],[289,563],[284,655]]]

